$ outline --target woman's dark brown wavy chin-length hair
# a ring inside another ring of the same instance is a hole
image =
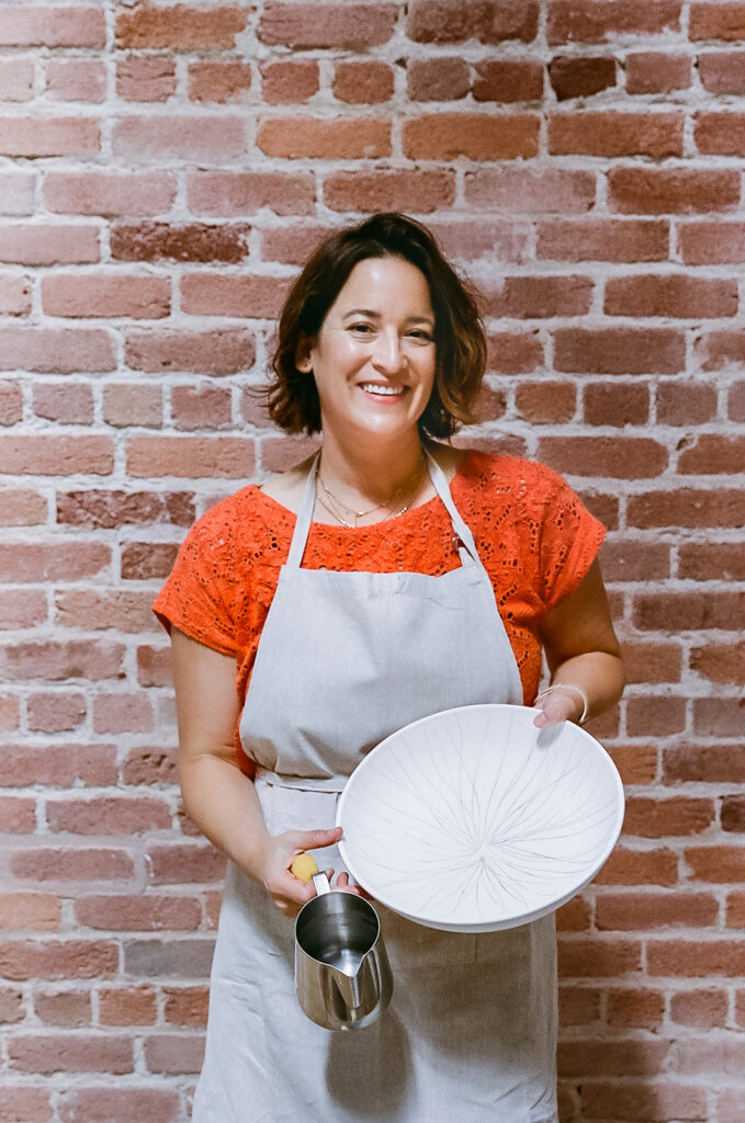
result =
[[[318,432],[315,380],[298,371],[303,341],[315,340],[355,265],[369,257],[400,257],[427,279],[435,313],[435,384],[419,419],[430,437],[451,437],[470,421],[487,365],[487,340],[475,294],[445,259],[429,230],[406,214],[373,214],[339,230],[316,249],[296,280],[278,323],[274,377],[263,391],[269,416],[285,432]]]

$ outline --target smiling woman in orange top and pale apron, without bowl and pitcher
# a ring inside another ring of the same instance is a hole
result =
[[[378,214],[327,239],[269,392],[320,456],[209,511],[155,603],[185,805],[230,859],[196,1123],[556,1119],[551,916],[471,937],[381,909],[396,988],[374,1025],[328,1033],[293,994],[290,919],[314,891],[290,865],[314,849],[356,892],[331,824],[365,752],[451,706],[533,703],[542,645],[536,724],[623,688],[600,524],[549,469],[436,439],[484,364],[474,300],[424,227]]]

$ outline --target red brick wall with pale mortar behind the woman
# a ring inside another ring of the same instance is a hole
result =
[[[399,208],[484,294],[461,439],[610,528],[628,818],[560,917],[563,1120],[742,1121],[745,2],[26,0],[0,45],[0,1120],[187,1117],[221,861],[148,605],[299,456],[246,393],[298,263]]]

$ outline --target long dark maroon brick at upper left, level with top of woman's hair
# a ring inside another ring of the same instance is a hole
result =
[[[243,223],[120,222],[111,228],[111,256],[133,262],[225,262],[237,264],[248,254],[251,227]]]

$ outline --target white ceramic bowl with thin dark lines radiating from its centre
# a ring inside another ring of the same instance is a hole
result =
[[[338,803],[342,857],[381,904],[452,932],[515,928],[592,880],[624,820],[612,760],[527,706],[445,710],[392,733]]]

